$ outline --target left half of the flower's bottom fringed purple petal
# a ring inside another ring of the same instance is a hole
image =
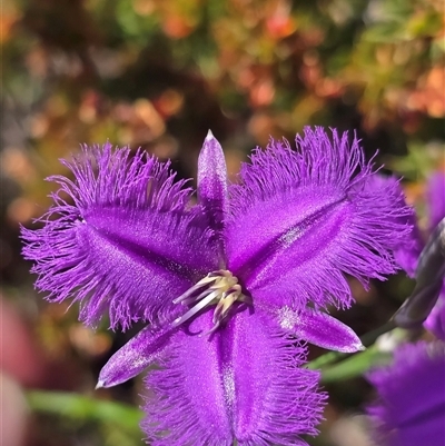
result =
[[[211,311],[178,331],[159,360],[160,370],[146,378],[149,396],[142,430],[152,446],[233,446],[222,386],[219,343],[210,330]]]

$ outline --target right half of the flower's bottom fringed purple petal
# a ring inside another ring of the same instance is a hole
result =
[[[222,374],[238,445],[306,445],[300,435],[317,435],[326,399],[319,373],[301,368],[306,348],[267,314],[243,311],[230,323]]]

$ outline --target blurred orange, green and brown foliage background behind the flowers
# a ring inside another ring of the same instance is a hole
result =
[[[58,159],[80,143],[142,147],[188,178],[211,129],[235,179],[269,136],[356,130],[404,176],[425,225],[425,180],[445,170],[443,0],[3,0],[0,20],[2,446],[142,445],[140,380],[92,392],[134,333],[91,331],[76,308],[47,305],[20,257],[19,226],[50,204],[43,178],[66,174]],[[362,335],[412,286],[352,283],[358,305],[337,316]],[[369,445],[365,380],[326,388],[310,445]]]

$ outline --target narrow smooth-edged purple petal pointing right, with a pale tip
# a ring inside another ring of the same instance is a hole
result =
[[[284,307],[278,313],[278,320],[281,328],[318,347],[343,353],[365,349],[350,327],[325,313],[310,309],[293,311]]]

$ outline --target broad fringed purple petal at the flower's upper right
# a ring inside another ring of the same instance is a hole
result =
[[[365,286],[397,269],[394,249],[408,237],[395,185],[367,187],[375,175],[359,141],[305,129],[299,151],[287,141],[257,150],[231,186],[228,268],[255,298],[303,308],[352,301],[345,274]]]

